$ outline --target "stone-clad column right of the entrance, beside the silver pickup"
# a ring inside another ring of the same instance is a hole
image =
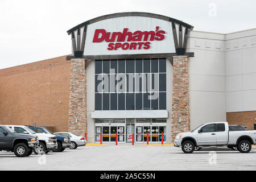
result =
[[[190,130],[188,57],[174,56],[171,142],[177,133]]]

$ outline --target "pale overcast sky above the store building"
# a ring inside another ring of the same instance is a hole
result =
[[[141,11],[170,16],[194,30],[256,28],[256,1],[0,0],[0,69],[71,53],[67,30],[97,16]]]

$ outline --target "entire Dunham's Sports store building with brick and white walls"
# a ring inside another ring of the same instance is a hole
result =
[[[2,122],[86,133],[89,143],[101,133],[106,143],[115,134],[129,143],[132,133],[137,143],[147,133],[150,142],[163,133],[171,143],[177,133],[216,121],[253,129],[256,29],[192,29],[136,12],[81,23],[68,31],[72,55],[0,70]]]

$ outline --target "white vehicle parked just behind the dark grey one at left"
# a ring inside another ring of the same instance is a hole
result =
[[[46,152],[46,154],[49,151],[54,150],[57,147],[57,142],[56,142],[56,136],[52,134],[46,134],[46,133],[35,133],[34,130],[30,129],[27,126],[22,126],[22,125],[6,125],[10,127],[10,129],[16,131],[16,133],[20,134],[30,134],[30,135],[35,135],[38,137],[39,144],[38,147],[34,148],[34,153],[39,154],[41,152]]]

